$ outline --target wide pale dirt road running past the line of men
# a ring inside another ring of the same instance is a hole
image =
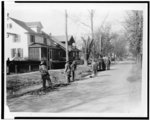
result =
[[[138,110],[141,80],[131,63],[113,65],[97,77],[75,81],[45,95],[24,95],[8,100],[13,112],[134,112]]]

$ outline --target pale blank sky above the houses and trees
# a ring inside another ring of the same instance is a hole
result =
[[[81,47],[81,37],[91,34],[90,14],[94,10],[94,31],[101,25],[111,24],[112,31],[123,29],[122,22],[127,10],[143,9],[139,4],[104,3],[13,3],[7,2],[6,13],[24,22],[40,21],[43,31],[54,36],[65,35],[65,10],[68,13],[68,35],[73,35],[77,46]],[[87,26],[85,26],[84,24]]]

